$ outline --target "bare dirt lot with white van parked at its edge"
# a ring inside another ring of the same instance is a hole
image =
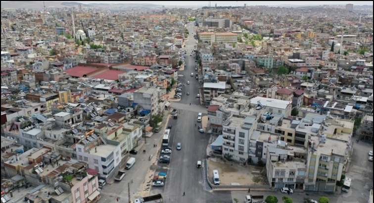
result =
[[[210,158],[208,159],[208,178],[213,181],[213,170],[217,169],[220,174],[221,185],[255,185],[252,181],[254,174],[252,171],[261,171],[261,167],[246,165],[242,166],[235,162],[229,162],[224,159]],[[256,175],[257,176],[257,175]],[[262,181],[256,185],[267,185],[267,180],[262,177]]]

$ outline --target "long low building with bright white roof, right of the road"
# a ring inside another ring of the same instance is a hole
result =
[[[276,100],[263,97],[255,97],[251,99],[251,106],[265,108],[269,113],[283,114],[284,117],[291,115],[292,102]]]

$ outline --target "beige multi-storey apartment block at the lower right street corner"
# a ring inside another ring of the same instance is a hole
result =
[[[350,142],[327,139],[325,135],[308,141],[305,191],[334,192],[345,170]]]

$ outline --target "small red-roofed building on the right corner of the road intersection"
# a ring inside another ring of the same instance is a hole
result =
[[[223,111],[220,105],[210,105],[206,110],[208,112],[208,130],[212,133],[222,134]]]

